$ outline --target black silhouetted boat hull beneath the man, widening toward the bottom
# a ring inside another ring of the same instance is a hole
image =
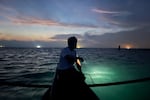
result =
[[[50,87],[44,93],[42,100],[100,100],[100,99],[81,78],[78,79],[74,78],[72,80],[59,80],[57,79],[56,74],[52,87]]]

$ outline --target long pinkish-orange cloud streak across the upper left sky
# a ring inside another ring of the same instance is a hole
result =
[[[46,25],[46,26],[60,26],[71,28],[98,28],[96,25],[81,24],[81,23],[63,23],[51,19],[43,19],[38,17],[19,16],[12,17],[7,16],[7,19],[15,25]]]

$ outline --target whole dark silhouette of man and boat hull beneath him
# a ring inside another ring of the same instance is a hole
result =
[[[84,82],[81,71],[83,58],[76,54],[77,38],[69,37],[68,46],[60,54],[52,87],[42,100],[99,100],[95,93]]]

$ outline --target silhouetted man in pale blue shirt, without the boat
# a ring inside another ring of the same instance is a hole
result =
[[[57,66],[58,76],[63,78],[66,78],[68,76],[64,76],[65,74],[76,71],[75,66],[77,67],[78,71],[81,72],[81,65],[79,61],[83,62],[83,58],[77,57],[77,53],[75,50],[77,47],[77,38],[74,36],[69,37],[67,42],[68,47],[62,49],[60,60]]]

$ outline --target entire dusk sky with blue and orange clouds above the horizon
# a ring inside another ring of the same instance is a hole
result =
[[[150,48],[150,0],[0,0],[0,47]]]

